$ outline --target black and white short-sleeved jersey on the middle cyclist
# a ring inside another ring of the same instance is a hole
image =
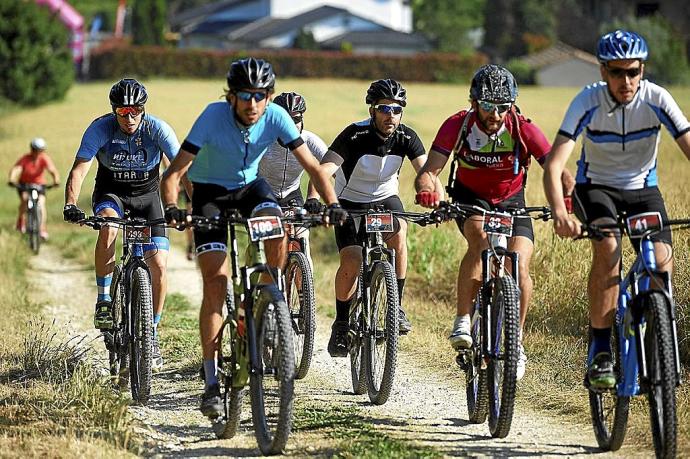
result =
[[[405,157],[424,155],[424,146],[412,129],[401,124],[385,140],[371,119],[346,127],[333,141],[328,156],[335,154],[340,169],[335,174],[338,199],[352,202],[382,200],[398,194],[398,175]]]

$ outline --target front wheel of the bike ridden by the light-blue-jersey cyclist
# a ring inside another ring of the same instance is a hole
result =
[[[278,287],[265,285],[254,313],[256,350],[263,366],[249,377],[254,434],[263,454],[279,454],[292,428],[295,356],[290,311]]]

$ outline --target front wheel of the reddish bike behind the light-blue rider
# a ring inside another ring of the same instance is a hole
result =
[[[307,257],[302,252],[290,252],[288,255],[285,293],[294,333],[295,379],[302,379],[307,376],[311,365],[316,330],[314,278]]]

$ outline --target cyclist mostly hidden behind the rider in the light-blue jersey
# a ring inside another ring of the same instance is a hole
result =
[[[326,154],[328,147],[321,138],[311,131],[304,129],[304,113],[307,111],[307,101],[304,97],[296,92],[284,92],[278,94],[273,102],[280,105],[288,112],[295,126],[300,132],[302,139],[309,147],[309,151],[321,161],[323,155]],[[316,188],[309,182],[307,187],[307,200],[304,201],[302,191],[300,190],[300,181],[304,168],[299,163],[297,158],[290,154],[290,149],[276,141],[268,149],[261,163],[259,163],[259,175],[262,176],[273,189],[273,194],[278,198],[278,204],[281,207],[290,207],[297,205],[304,207],[304,209],[312,214],[321,212],[322,205],[319,201],[319,194]],[[300,229],[300,236],[304,238],[305,252],[309,264],[312,264],[311,254],[309,251],[309,230],[306,228]]]

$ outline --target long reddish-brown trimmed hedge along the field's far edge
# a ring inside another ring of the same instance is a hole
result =
[[[231,61],[254,56],[271,62],[279,77],[395,78],[403,81],[467,81],[487,62],[483,54],[459,56],[425,53],[414,56],[371,56],[331,51],[215,51],[155,46],[104,45],[91,54],[89,78],[122,75],[179,78],[222,78]]]

